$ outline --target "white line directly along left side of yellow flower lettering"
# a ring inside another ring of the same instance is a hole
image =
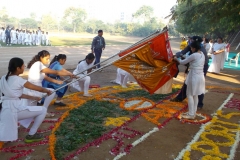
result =
[[[230,99],[233,97],[233,95],[234,95],[234,94],[231,93],[231,94],[228,96],[228,98],[223,102],[223,104],[217,109],[217,111],[222,110],[222,108],[227,104],[228,101],[230,101]],[[215,115],[216,115],[216,113],[215,113]],[[192,139],[192,141],[191,141],[190,143],[188,143],[187,146],[178,154],[178,156],[175,158],[175,160],[181,160],[182,157],[183,157],[183,155],[184,155],[184,153],[185,153],[186,151],[190,151],[190,150],[191,150],[191,145],[192,145],[193,143],[197,142],[197,140],[199,139],[200,135],[205,131],[205,127],[206,127],[207,125],[209,125],[210,123],[211,123],[211,121],[208,122],[208,123],[205,123],[205,124],[203,124],[203,125],[201,126],[200,130],[199,130],[199,131],[197,132],[197,134],[194,136],[194,138]],[[235,151],[234,151],[233,154],[235,154]]]

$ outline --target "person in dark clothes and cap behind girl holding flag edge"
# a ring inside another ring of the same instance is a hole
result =
[[[202,38],[199,37],[199,36],[193,36],[192,37],[192,41],[198,41],[198,42],[202,42]],[[201,46],[201,49],[200,49],[204,56],[205,56],[205,64],[204,64],[204,68],[203,68],[203,72],[204,72],[204,77],[206,77],[206,74],[207,74],[207,70],[208,70],[208,56],[207,56],[207,51],[204,47],[204,45]],[[192,51],[191,51],[191,47],[190,45],[188,45],[184,50],[182,50],[181,52],[178,52],[176,53],[176,56],[179,58],[179,57],[182,57],[183,55],[186,55],[188,52],[190,52],[189,54],[192,54]],[[186,73],[187,71],[185,71]],[[176,75],[177,76],[177,75]],[[180,93],[174,98],[174,99],[171,99],[172,102],[182,102],[186,97],[186,92],[187,92],[187,85],[184,83],[183,86],[182,86],[182,89],[180,91]],[[204,94],[201,94],[198,96],[198,109],[202,109],[203,107],[203,99],[204,99]]]

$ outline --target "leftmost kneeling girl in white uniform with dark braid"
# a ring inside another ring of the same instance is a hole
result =
[[[0,141],[15,141],[18,139],[18,121],[34,119],[25,142],[35,142],[43,139],[43,135],[37,133],[47,112],[46,107],[26,106],[21,103],[21,98],[39,100],[40,97],[23,94],[23,88],[36,90],[39,93],[51,94],[50,90],[36,86],[19,77],[24,72],[24,62],[21,58],[12,58],[8,65],[8,74],[0,80],[0,91],[3,96],[0,109]],[[27,126],[28,127],[28,126]]]

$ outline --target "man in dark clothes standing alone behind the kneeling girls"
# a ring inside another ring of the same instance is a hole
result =
[[[94,37],[92,41],[91,49],[92,49],[92,53],[94,53],[96,57],[94,65],[100,63],[102,51],[105,49],[105,40],[102,37],[102,35],[103,35],[103,31],[99,30],[98,36]],[[97,65],[97,68],[100,68],[100,64]]]

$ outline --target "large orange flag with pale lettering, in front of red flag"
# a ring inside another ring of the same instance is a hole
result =
[[[155,59],[153,55],[150,45],[145,44],[121,57],[113,65],[129,72],[142,88],[152,94],[177,72],[175,62]]]

